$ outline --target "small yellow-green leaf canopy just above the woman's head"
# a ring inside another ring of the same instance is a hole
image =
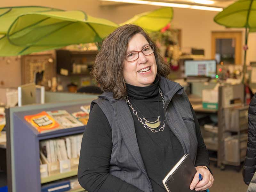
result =
[[[172,17],[172,8],[165,7],[135,15],[134,17],[125,21],[124,23],[121,23],[120,25],[128,23],[139,25],[149,33],[152,31],[161,30],[163,27],[171,22]]]

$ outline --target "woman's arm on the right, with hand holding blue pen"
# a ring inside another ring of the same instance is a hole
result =
[[[196,190],[206,190],[207,188],[212,187],[213,176],[212,171],[209,168],[209,153],[204,144],[204,139],[201,134],[200,125],[196,117],[196,113],[190,104],[190,109],[192,111],[194,122],[196,126],[196,137],[197,137],[197,155],[196,155],[196,174],[193,181],[191,182],[190,189]],[[199,182],[199,173],[203,176],[203,180]]]

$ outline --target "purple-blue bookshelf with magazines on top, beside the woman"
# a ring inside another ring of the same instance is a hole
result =
[[[59,137],[81,134],[85,125],[67,129],[59,129],[51,132],[39,133],[29,124],[24,116],[37,114],[48,110],[67,110],[68,113],[81,111],[82,105],[89,105],[93,99],[92,95],[84,100],[65,101],[60,103],[48,103],[44,105],[29,105],[24,107],[9,108],[10,122],[10,145],[11,145],[11,185],[12,192],[33,191],[41,192],[41,185],[77,175],[77,169],[70,172],[58,173],[41,178],[40,175],[40,149],[42,140],[55,139]],[[9,188],[9,185],[8,185]],[[69,190],[70,192],[85,191],[83,188]]]

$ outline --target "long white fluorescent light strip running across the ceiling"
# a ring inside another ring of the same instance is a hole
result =
[[[100,0],[100,1],[112,1],[112,2],[132,3],[132,4],[147,4],[147,5],[156,5],[156,6],[164,6],[164,7],[179,7],[179,8],[199,9],[199,10],[217,11],[217,12],[221,12],[223,10],[220,7],[167,3],[167,2],[158,2],[158,1],[143,1],[143,0]],[[197,0],[195,0],[195,1],[197,1]],[[198,1],[210,2],[209,0],[198,0]]]

